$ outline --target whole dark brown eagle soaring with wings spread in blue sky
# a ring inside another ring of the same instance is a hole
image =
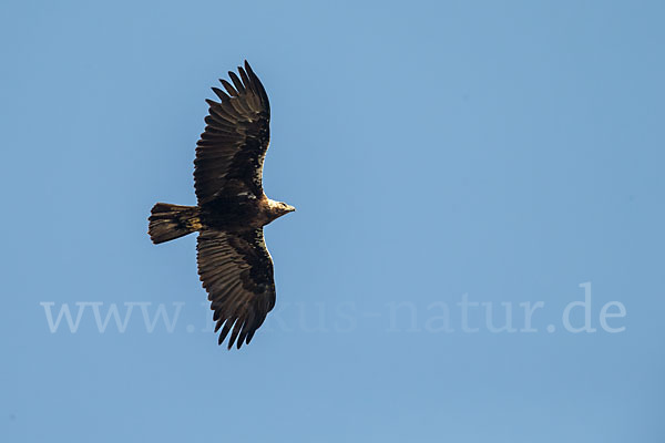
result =
[[[275,307],[273,259],[263,227],[296,210],[263,189],[263,164],[270,140],[270,105],[263,84],[245,61],[228,72],[218,102],[206,100],[205,131],[196,144],[196,206],[157,203],[149,217],[156,244],[198,231],[196,260],[214,311],[218,343],[249,344]],[[239,76],[238,76],[239,75]],[[233,83],[233,84],[232,84]]]

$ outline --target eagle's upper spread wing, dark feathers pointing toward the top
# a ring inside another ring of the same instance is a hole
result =
[[[194,187],[198,205],[218,196],[263,195],[263,163],[270,138],[270,105],[260,81],[245,61],[226,92],[213,87],[221,102],[209,105],[205,132],[196,146]],[[246,195],[246,194],[245,194]]]

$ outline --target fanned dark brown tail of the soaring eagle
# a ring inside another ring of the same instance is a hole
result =
[[[147,218],[150,239],[158,245],[173,240],[202,228],[198,207],[157,203]]]

